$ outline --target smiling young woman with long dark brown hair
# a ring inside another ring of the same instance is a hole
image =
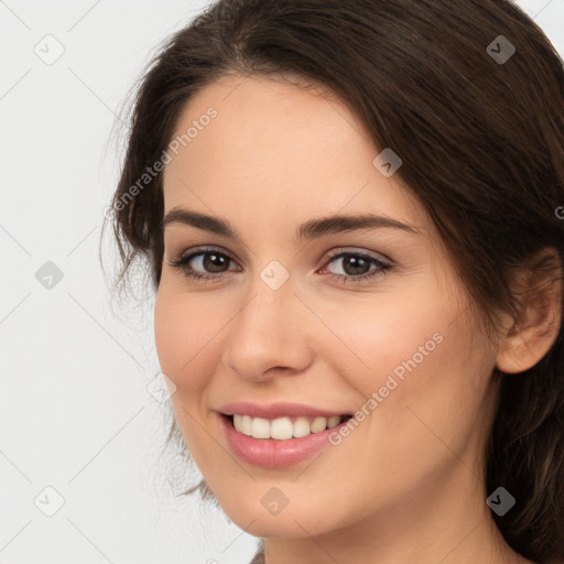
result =
[[[564,561],[564,73],[500,0],[223,0],[115,194],[171,440],[254,563]]]

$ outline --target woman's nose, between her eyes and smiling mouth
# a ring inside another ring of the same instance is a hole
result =
[[[312,321],[291,280],[272,290],[259,279],[247,296],[230,324],[225,364],[257,382],[306,370],[313,357]]]

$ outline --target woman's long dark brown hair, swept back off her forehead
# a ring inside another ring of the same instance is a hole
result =
[[[510,54],[507,61],[496,53]],[[497,43],[496,43],[497,41]],[[488,47],[494,45],[494,47]],[[502,51],[503,50],[503,51]],[[126,284],[163,259],[161,160],[186,102],[225,75],[301,78],[337,94],[421,202],[492,330],[514,319],[516,268],[545,248],[564,262],[564,70],[536,24],[508,0],[220,0],[161,50],[134,100],[113,231]],[[557,261],[556,261],[557,262]],[[552,263],[554,276],[558,264]],[[564,337],[533,368],[502,376],[486,487],[517,505],[494,516],[509,545],[564,560]],[[180,440],[175,423],[170,438]]]

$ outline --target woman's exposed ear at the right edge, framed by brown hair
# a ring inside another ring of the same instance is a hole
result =
[[[507,373],[533,367],[556,340],[562,323],[562,263],[556,250],[543,249],[532,268],[519,271],[513,291],[520,303],[518,319],[505,327],[496,360]]]

